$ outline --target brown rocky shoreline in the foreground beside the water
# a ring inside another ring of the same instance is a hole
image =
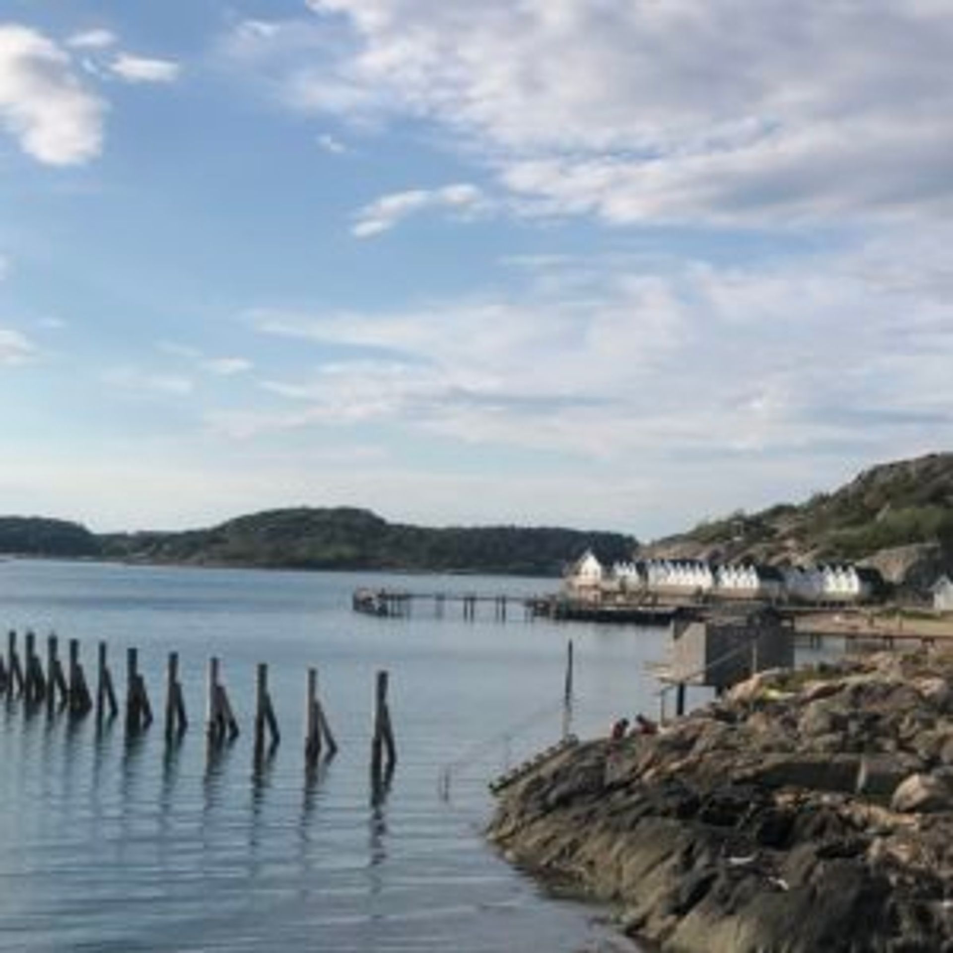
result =
[[[665,953],[953,953],[953,656],[761,673],[499,796],[489,836]]]

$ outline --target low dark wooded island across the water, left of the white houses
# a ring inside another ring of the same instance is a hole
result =
[[[557,577],[589,548],[629,558],[638,541],[559,527],[426,528],[351,507],[270,510],[209,529],[97,535],[43,517],[0,517],[0,553],[270,569],[394,570]]]

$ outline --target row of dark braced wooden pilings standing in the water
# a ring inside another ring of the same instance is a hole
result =
[[[375,681],[374,735],[371,742],[371,771],[375,779],[385,772],[389,776],[396,763],[394,728],[387,701],[388,673],[378,671]],[[333,758],[337,742],[331,731],[324,706],[318,698],[317,669],[309,668],[305,686],[305,762],[313,765],[321,758]],[[71,718],[81,719],[95,709],[97,725],[113,720],[119,714],[112,670],[107,658],[107,644],[100,641],[97,651],[96,692],[93,698],[86,673],[80,662],[79,639],[69,641],[69,662],[66,672],[59,659],[59,639],[47,638],[47,664],[36,651],[36,636],[24,635],[23,658],[17,648],[17,633],[7,637],[6,659],[0,656],[0,695],[8,700],[22,699],[28,705],[46,703],[50,713],[66,710]],[[274,705],[268,689],[268,665],[259,662],[255,670],[254,756],[262,758],[272,753],[281,741],[281,732],[274,715]],[[139,672],[138,649],[126,650],[125,721],[127,735],[135,735],[152,724],[152,704],[146,680]],[[182,684],[179,681],[179,656],[170,652],[166,668],[165,736],[167,741],[181,739],[189,727]],[[235,740],[239,735],[228,691],[221,678],[219,659],[209,659],[208,706],[206,732],[210,744],[219,745]],[[267,740],[267,743],[266,743]]]

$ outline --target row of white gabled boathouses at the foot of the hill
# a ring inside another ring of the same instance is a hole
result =
[[[862,601],[877,595],[877,570],[850,563],[764,566],[700,559],[645,559],[605,567],[587,552],[570,568],[570,589],[656,593],[669,596],[793,599],[804,602]]]

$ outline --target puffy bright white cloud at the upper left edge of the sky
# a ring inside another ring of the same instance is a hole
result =
[[[102,150],[106,105],[80,82],[69,53],[36,30],[0,25],[0,126],[54,166]]]

